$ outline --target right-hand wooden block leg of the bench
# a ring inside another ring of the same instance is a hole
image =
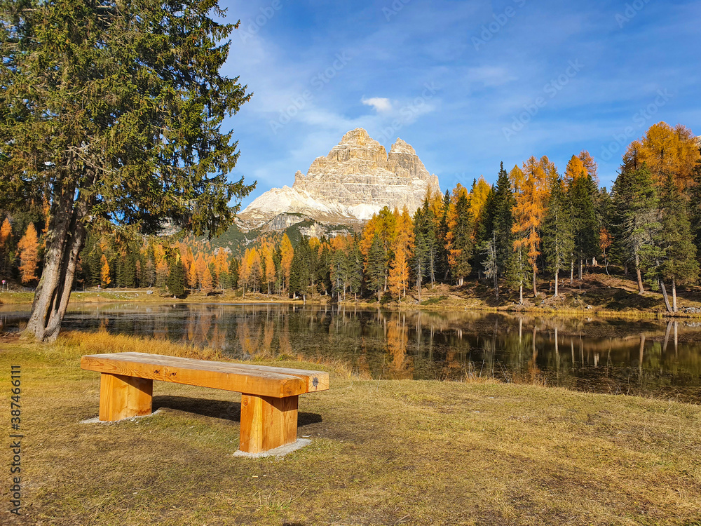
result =
[[[246,453],[260,453],[294,443],[297,440],[298,398],[243,393],[238,449]]]

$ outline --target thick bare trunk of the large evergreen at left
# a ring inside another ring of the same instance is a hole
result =
[[[44,269],[34,293],[32,313],[25,332],[41,342],[53,342],[66,314],[78,255],[86,238],[83,222],[88,212],[85,194],[74,200],[74,188],[65,187],[55,208]]]

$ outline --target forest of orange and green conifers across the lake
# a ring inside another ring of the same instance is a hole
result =
[[[386,297],[421,301],[427,285],[477,279],[495,299],[505,290],[538,298],[537,277],[582,279],[592,267],[629,276],[639,292],[662,292],[678,310],[680,287],[697,284],[701,255],[701,154],[685,126],[660,122],[627,147],[611,190],[599,186],[587,151],[564,173],[531,156],[494,185],[484,177],[428,194],[414,215],[384,208],[362,231],[306,238],[267,233],[238,250],[217,238],[125,236],[88,227],[74,288],[156,287],[181,297],[237,289],[268,295]],[[25,285],[41,275],[48,206],[7,215],[0,227],[0,275]]]

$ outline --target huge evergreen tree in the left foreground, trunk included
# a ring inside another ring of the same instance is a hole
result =
[[[221,15],[217,0],[0,3],[0,207],[50,207],[28,334],[57,337],[88,223],[232,224],[253,187],[229,181],[222,123],[250,94],[219,72],[237,27]]]

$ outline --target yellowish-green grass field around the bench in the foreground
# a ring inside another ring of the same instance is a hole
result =
[[[0,338],[0,388],[21,366],[22,504],[0,523],[52,525],[700,525],[701,407],[495,382],[372,381],[338,364],[300,398],[281,459],[233,457],[236,393],[154,384],[151,417],[95,417],[82,354],[212,349],[106,334],[48,346]],[[7,433],[5,436],[8,436]],[[4,442],[9,439],[5,438]],[[9,466],[10,450],[0,463]]]

